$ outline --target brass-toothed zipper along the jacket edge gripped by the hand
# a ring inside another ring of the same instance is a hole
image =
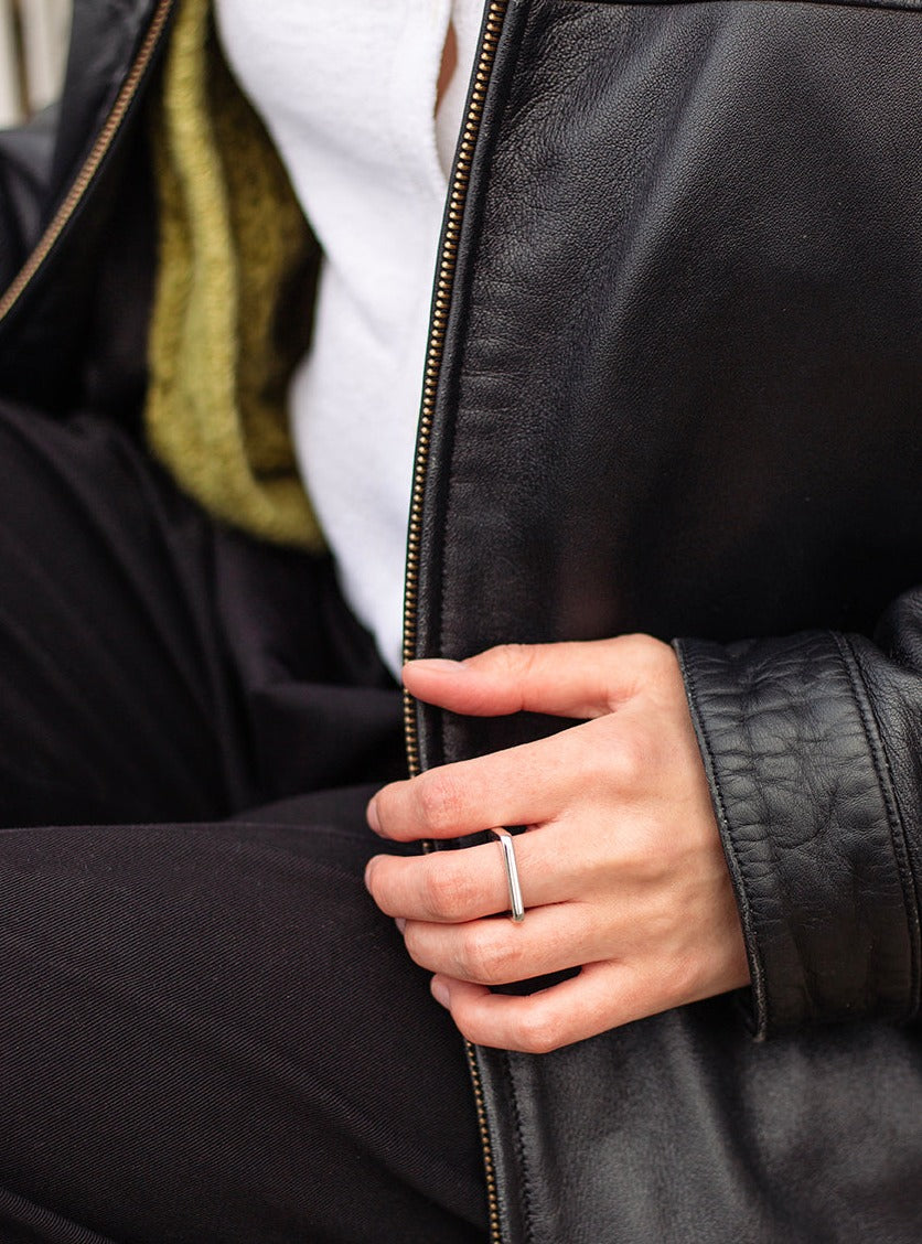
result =
[[[435,391],[438,388],[439,373],[442,371],[442,355],[445,345],[448,309],[452,301],[452,290],[454,287],[454,270],[458,260],[462,219],[464,215],[464,204],[468,197],[468,183],[470,180],[470,165],[474,158],[474,148],[477,146],[477,137],[480,132],[480,121],[487,98],[487,87],[493,71],[493,62],[496,57],[496,47],[499,45],[499,36],[503,30],[503,21],[505,19],[508,4],[509,0],[489,0],[489,5],[485,11],[480,49],[472,80],[468,111],[464,117],[458,154],[455,156],[454,169],[452,172],[452,182],[448,194],[448,210],[445,213],[445,224],[442,233],[442,246],[435,275],[432,317],[429,321],[429,341],[426,352],[423,397],[419,411],[416,462],[413,464],[413,489],[409,503],[407,582],[403,601],[404,661],[412,661],[416,656],[423,495],[426,491],[426,473],[429,459],[432,425],[435,415]],[[419,735],[413,699],[406,692],[403,695],[403,725],[407,763],[409,765],[411,776],[416,776],[419,773]],[[429,850],[429,845],[423,843],[423,850]],[[483,1147],[484,1156],[487,1199],[490,1219],[490,1242],[491,1244],[503,1244],[503,1232],[499,1218],[499,1195],[496,1191],[496,1168],[493,1158],[493,1143],[490,1141],[490,1133],[487,1125],[483,1081],[480,1079],[480,1069],[477,1065],[474,1046],[470,1041],[465,1041],[465,1049],[468,1065],[470,1067],[470,1080],[474,1087],[474,1102],[477,1105],[480,1144]]]

